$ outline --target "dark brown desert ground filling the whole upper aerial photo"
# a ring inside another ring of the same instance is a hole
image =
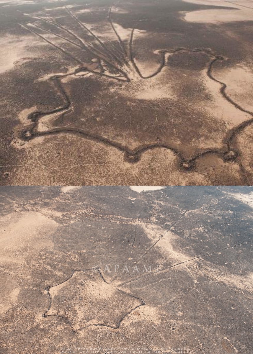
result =
[[[0,12],[1,184],[252,184],[252,0]]]

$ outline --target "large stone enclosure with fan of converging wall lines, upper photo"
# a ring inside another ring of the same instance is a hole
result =
[[[223,53],[169,40],[152,52],[145,47],[148,32],[139,29],[145,19],[123,28],[110,8],[96,26],[85,22],[100,10],[86,18],[63,6],[50,16],[29,16],[23,27],[71,58],[73,67],[48,79],[62,105],[30,113],[20,137],[75,134],[123,151],[128,162],[139,161],[147,149],[167,148],[186,168],[207,152],[234,158],[230,141],[252,122],[252,112],[233,101],[226,82],[215,76],[226,62]]]

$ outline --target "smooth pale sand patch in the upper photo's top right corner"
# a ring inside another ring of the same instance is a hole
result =
[[[220,0],[184,0],[193,4],[232,7],[233,9],[209,9],[181,12],[185,21],[197,23],[223,23],[253,20],[253,4],[249,0],[235,2]]]

